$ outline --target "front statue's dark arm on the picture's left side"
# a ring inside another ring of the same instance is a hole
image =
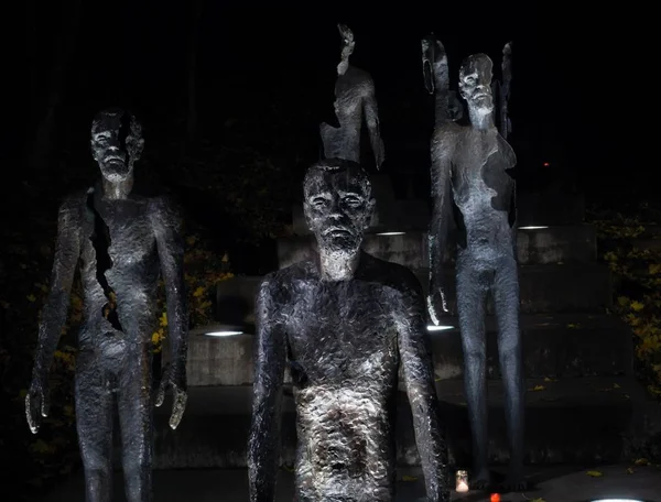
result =
[[[254,383],[252,422],[248,439],[248,478],[251,502],[273,502],[280,460],[280,411],[284,380],[285,336],[267,277],[256,302]]]

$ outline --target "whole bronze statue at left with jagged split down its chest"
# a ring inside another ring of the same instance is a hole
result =
[[[36,434],[48,413],[48,370],[66,319],[77,264],[84,291],[84,319],[76,360],[76,426],[87,502],[111,499],[112,415],[117,401],[126,496],[152,500],[152,356],[155,293],[162,272],[167,293],[171,365],[155,405],[172,388],[170,426],[186,405],[186,347],[183,245],[178,215],[164,198],[131,194],[133,163],[143,148],[133,116],[110,109],[96,116],[91,151],[102,179],[59,208],[51,291],[39,328],[32,384],[25,399]]]

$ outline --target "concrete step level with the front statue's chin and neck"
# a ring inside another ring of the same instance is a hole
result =
[[[383,233],[367,233],[362,249],[381,260],[410,269],[429,266],[426,231],[403,231],[391,227]],[[316,243],[312,236],[278,240],[278,260],[281,268],[314,255]],[[566,227],[520,228],[517,233],[519,263],[550,264],[593,262],[597,258],[596,230],[592,225]]]

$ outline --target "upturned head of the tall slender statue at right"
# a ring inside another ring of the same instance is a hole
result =
[[[459,92],[468,108],[480,113],[494,110],[491,77],[494,63],[486,54],[473,54],[462,63]]]

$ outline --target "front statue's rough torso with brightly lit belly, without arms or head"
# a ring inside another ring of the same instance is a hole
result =
[[[405,294],[370,274],[291,282],[282,314],[297,415],[296,479],[312,500],[389,500],[397,319],[405,315]]]

